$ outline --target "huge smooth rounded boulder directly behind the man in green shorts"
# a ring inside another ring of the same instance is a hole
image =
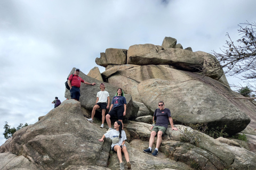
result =
[[[184,80],[183,74],[190,78]],[[255,114],[255,109],[252,111],[241,101],[230,99],[234,92],[218,81],[185,71],[180,71],[176,77],[181,80],[149,79],[138,85],[142,103],[151,112],[157,108],[158,101],[163,100],[175,121],[207,123],[212,128],[227,125],[229,134],[244,130],[250,123],[247,115]]]

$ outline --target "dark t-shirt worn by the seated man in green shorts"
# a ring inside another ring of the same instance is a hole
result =
[[[156,117],[156,126],[164,126],[165,128],[168,128],[169,117],[171,117],[171,111],[169,108],[164,108],[162,111],[157,108],[154,116]]]

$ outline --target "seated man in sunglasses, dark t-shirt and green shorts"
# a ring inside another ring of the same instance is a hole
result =
[[[143,152],[147,154],[152,153],[152,146],[155,141],[155,135],[157,134],[156,148],[155,151],[152,153],[152,156],[157,156],[158,148],[160,147],[160,144],[162,142],[162,135],[164,135],[164,132],[168,128],[169,122],[172,126],[172,130],[177,131],[178,129],[175,128],[173,125],[170,109],[164,108],[164,101],[158,102],[158,108],[155,110],[153,122],[156,122],[156,124],[153,123],[150,128],[150,130],[152,131],[149,138],[148,149],[144,149]]]

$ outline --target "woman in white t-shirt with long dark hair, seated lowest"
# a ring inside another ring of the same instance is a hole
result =
[[[100,142],[103,142],[104,138],[110,138],[112,140],[111,150],[117,153],[117,157],[120,163],[120,169],[124,169],[124,163],[122,160],[122,152],[124,153],[124,157],[128,166],[128,169],[131,169],[131,163],[129,154],[125,145],[126,134],[123,129],[123,124],[120,121],[116,121],[114,123],[114,129],[107,131],[103,134],[102,138],[99,139]]]

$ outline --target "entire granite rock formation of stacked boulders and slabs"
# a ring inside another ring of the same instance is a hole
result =
[[[239,94],[229,88],[214,56],[183,49],[176,39],[165,37],[162,46],[108,48],[95,62],[106,71],[94,67],[90,77],[83,72],[79,76],[97,85],[82,84],[79,102],[65,100],[35,124],[15,132],[0,147],[0,169],[119,169],[111,141],[98,141],[107,130],[99,127],[101,111],[93,123],[86,121],[103,81],[110,99],[119,87],[125,92],[124,130],[132,169],[256,169],[256,106],[233,99]],[[70,99],[67,89],[65,97]],[[159,100],[171,109],[179,130],[168,128],[158,156],[152,157],[142,150],[148,147]],[[229,134],[247,133],[247,142],[213,139],[184,123],[226,125]],[[123,162],[126,165],[124,156]]]

